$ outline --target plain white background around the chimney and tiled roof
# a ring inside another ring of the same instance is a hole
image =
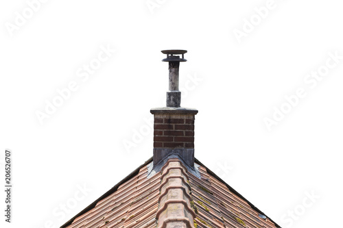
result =
[[[267,1],[146,3],[51,0],[11,36],[9,23],[28,5],[1,1],[1,179],[11,149],[14,186],[11,224],[1,190],[1,227],[60,227],[152,156],[151,129],[132,138],[150,126],[150,108],[165,105],[163,49],[188,51],[181,105],[199,110],[198,160],[281,227],[338,227],[343,60],[314,88],[304,79],[329,52],[343,55],[340,1],[275,0],[240,43],[234,29]],[[82,81],[78,69],[108,45],[115,53]],[[70,81],[78,90],[40,124],[36,112]],[[307,96],[268,131],[263,118],[297,88]],[[91,192],[73,205],[84,185]],[[66,203],[73,208],[63,212]],[[296,219],[287,215],[294,210]]]

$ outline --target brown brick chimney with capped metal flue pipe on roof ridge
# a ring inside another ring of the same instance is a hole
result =
[[[185,50],[165,50],[163,62],[169,63],[167,107],[152,108],[154,115],[154,166],[170,155],[177,155],[187,165],[194,166],[194,120],[198,110],[180,107],[178,90],[180,62],[186,62]],[[181,55],[181,56],[180,56]],[[180,58],[181,57],[181,58]]]

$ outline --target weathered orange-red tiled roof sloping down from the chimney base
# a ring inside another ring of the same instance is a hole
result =
[[[148,177],[152,159],[62,227],[279,227],[196,160],[200,178],[169,158]]]

